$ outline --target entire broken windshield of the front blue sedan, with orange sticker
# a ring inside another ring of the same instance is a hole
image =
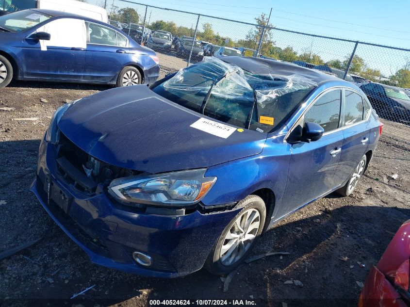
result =
[[[224,75],[225,79],[222,79]],[[269,132],[281,125],[317,85],[298,75],[255,75],[213,57],[181,69],[153,91],[181,106],[240,128]],[[255,104],[255,96],[257,98]],[[250,116],[249,116],[250,115]]]

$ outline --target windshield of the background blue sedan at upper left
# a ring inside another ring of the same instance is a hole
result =
[[[51,15],[32,10],[20,11],[0,16],[0,28],[11,32],[21,32],[31,29],[51,17]]]

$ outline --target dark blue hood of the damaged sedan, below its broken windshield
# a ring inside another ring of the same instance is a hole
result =
[[[201,117],[209,118],[135,85],[83,98],[58,126],[91,156],[148,173],[209,167],[262,152],[266,133],[235,130],[225,139],[190,127]]]

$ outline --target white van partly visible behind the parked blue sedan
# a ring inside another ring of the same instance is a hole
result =
[[[77,0],[0,0],[0,15],[35,8],[68,12],[108,23],[104,8]]]

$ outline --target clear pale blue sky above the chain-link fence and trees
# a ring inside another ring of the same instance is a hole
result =
[[[88,1],[92,3],[103,0]],[[145,7],[119,0],[107,0],[107,11],[113,1],[116,6],[133,6],[140,16],[145,13]],[[269,15],[272,8],[270,23],[277,28],[410,49],[410,0],[131,1],[249,23],[255,23],[255,17],[262,13]],[[148,17],[151,23],[158,19],[172,20],[179,26],[194,28],[197,22],[197,17],[193,15],[149,7]],[[249,30],[254,29],[252,26],[208,17],[200,18],[199,29],[205,22],[211,23],[214,31],[221,36],[233,39],[244,38]],[[273,31],[272,36],[276,45],[281,48],[292,46],[298,53],[312,51],[318,53],[325,61],[335,58],[343,60],[351,54],[354,47],[354,43],[330,41],[288,32]],[[359,45],[356,54],[371,63],[369,65],[372,66],[371,68],[381,70],[384,75],[394,73],[410,61],[410,52],[364,45]]]

